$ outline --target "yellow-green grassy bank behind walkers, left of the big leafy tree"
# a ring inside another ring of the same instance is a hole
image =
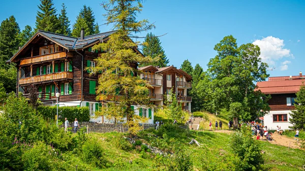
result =
[[[195,117],[201,117],[203,120],[200,122],[200,130],[208,130],[209,129],[209,121],[212,122],[212,129],[215,129],[215,121],[221,121],[223,123],[224,129],[229,129],[228,123],[229,121],[223,118],[217,117],[217,115],[209,114],[207,112],[194,112],[193,115]],[[218,124],[219,129],[219,124]]]

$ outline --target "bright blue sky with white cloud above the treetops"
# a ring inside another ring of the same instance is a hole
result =
[[[67,6],[72,24],[83,5],[92,7],[99,24],[105,23],[102,0],[53,0],[57,13],[62,3]],[[1,1],[0,20],[14,15],[21,29],[35,27],[39,0]],[[146,0],[139,19],[156,22],[151,30],[160,37],[169,64],[180,67],[189,59],[204,71],[209,59],[215,57],[214,46],[223,37],[233,35],[238,45],[254,43],[261,48],[261,57],[270,68],[270,76],[305,75],[305,1],[182,1]],[[102,32],[111,29],[102,25]],[[145,36],[146,33],[142,33]]]

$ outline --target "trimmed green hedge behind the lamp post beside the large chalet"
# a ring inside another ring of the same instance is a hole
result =
[[[37,112],[41,114],[46,120],[55,120],[56,107],[40,106],[37,108]],[[90,120],[88,107],[59,107],[58,108],[58,121],[65,121],[67,118],[70,122],[73,122],[75,118],[79,122],[87,122]]]

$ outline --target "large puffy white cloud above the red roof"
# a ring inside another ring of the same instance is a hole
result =
[[[290,49],[284,48],[284,40],[281,40],[280,38],[268,36],[266,38],[254,41],[253,44],[260,47],[260,58],[263,62],[268,63],[269,66],[276,65],[276,62],[283,57],[293,58],[293,54],[290,52]],[[285,67],[283,67],[283,69],[285,69]]]

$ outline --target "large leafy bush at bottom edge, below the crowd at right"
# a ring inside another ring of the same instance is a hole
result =
[[[232,133],[230,147],[239,158],[237,164],[241,170],[259,170],[264,164],[261,147],[258,141],[252,138],[249,127],[242,126],[240,131]]]

